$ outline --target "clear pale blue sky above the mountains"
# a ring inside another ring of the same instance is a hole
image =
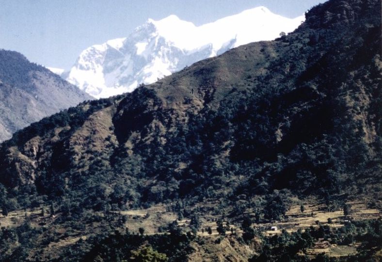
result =
[[[0,48],[45,66],[70,68],[80,52],[126,37],[148,18],[175,14],[195,25],[259,5],[286,17],[326,0],[0,0]]]

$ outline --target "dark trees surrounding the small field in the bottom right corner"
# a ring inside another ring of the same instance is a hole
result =
[[[308,259],[301,256],[300,252],[315,245],[318,239],[329,240],[331,244],[349,245],[361,242],[356,255],[340,258],[329,257],[319,254],[317,257]],[[374,261],[375,251],[380,250],[382,240],[382,219],[358,221],[346,225],[343,228],[330,228],[329,226],[311,227],[304,232],[297,231],[271,238],[263,238],[262,253],[250,259],[250,262],[356,262]]]

